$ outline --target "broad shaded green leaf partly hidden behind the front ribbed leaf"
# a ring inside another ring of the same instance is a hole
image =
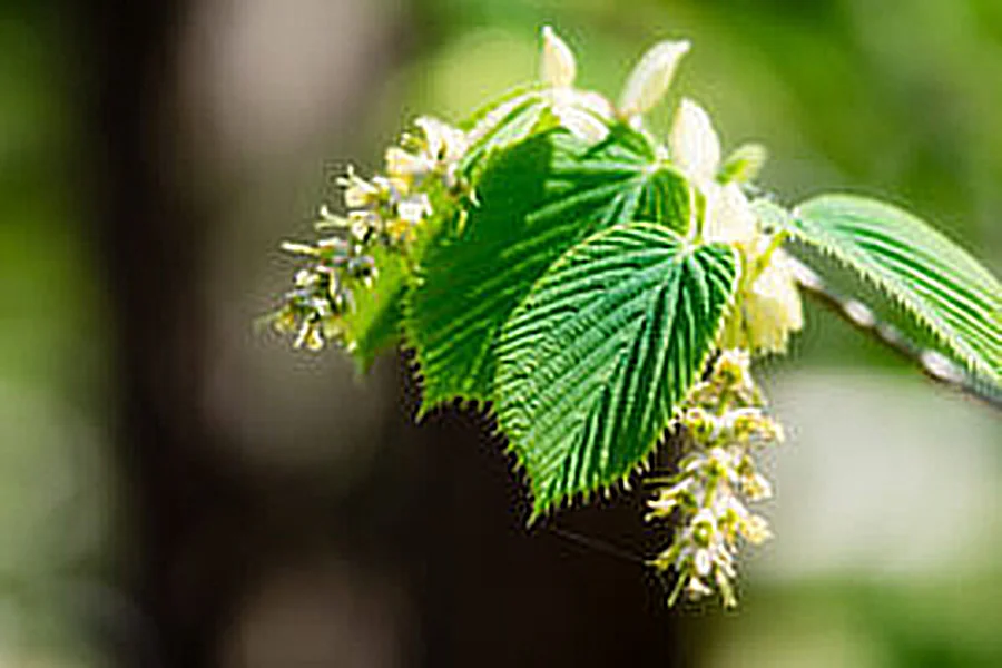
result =
[[[626,127],[596,146],[552,130],[499,153],[478,185],[478,204],[429,247],[406,297],[423,410],[453,397],[492,399],[498,332],[568,248],[638,218],[684,232],[689,199],[686,180]]]

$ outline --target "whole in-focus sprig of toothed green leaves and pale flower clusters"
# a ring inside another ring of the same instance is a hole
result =
[[[687,41],[648,51],[616,108],[576,88],[573,53],[552,30],[542,37],[541,85],[458,128],[421,118],[387,150],[385,175],[350,173],[353,210],[328,217],[341,236],[289,245],[313,264],[283,325],[308,345],[342,341],[363,369],[402,332],[422,412],[454,400],[497,410],[533,517],[625,481],[666,430],[689,433],[689,482],[652,503],[658,517],[685,507],[657,563],[692,596],[713,584],[733,603],[736,541],[768,536],[744,505],[769,489],[752,451],[782,441],[752,357],[785,352],[803,325],[784,240],[837,258],[978,383],[999,386],[1002,288],[890,205],[825,196],[790,215],[756,197],[765,149],[746,145],[721,164],[711,119],[692,100],[660,144],[644,116]]]

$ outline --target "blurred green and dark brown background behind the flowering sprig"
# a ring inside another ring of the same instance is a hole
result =
[[[0,666],[1002,665],[999,414],[823,310],[762,367],[792,438],[729,613],[665,609],[640,499],[527,531],[484,419],[254,331],[347,158],[531,78],[544,23],[612,96],[692,39],[674,95],[782,200],[1002,272],[999,0],[6,0]]]

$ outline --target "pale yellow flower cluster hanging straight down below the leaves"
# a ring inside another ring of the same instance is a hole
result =
[[[748,502],[768,499],[772,485],[759,472],[756,449],[783,441],[783,430],[762,407],[747,352],[720,354],[709,377],[699,383],[678,420],[687,452],[678,473],[649,501],[648,520],[677,519],[671,544],[654,560],[678,580],[669,597],[711,595],[737,603],[735,559],[740,542],[758,544],[770,537],[768,524]]]

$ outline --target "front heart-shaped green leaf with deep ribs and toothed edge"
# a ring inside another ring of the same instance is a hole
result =
[[[498,420],[534,514],[627,477],[706,364],[737,288],[723,244],[633,223],[576,246],[532,287],[498,346]]]

